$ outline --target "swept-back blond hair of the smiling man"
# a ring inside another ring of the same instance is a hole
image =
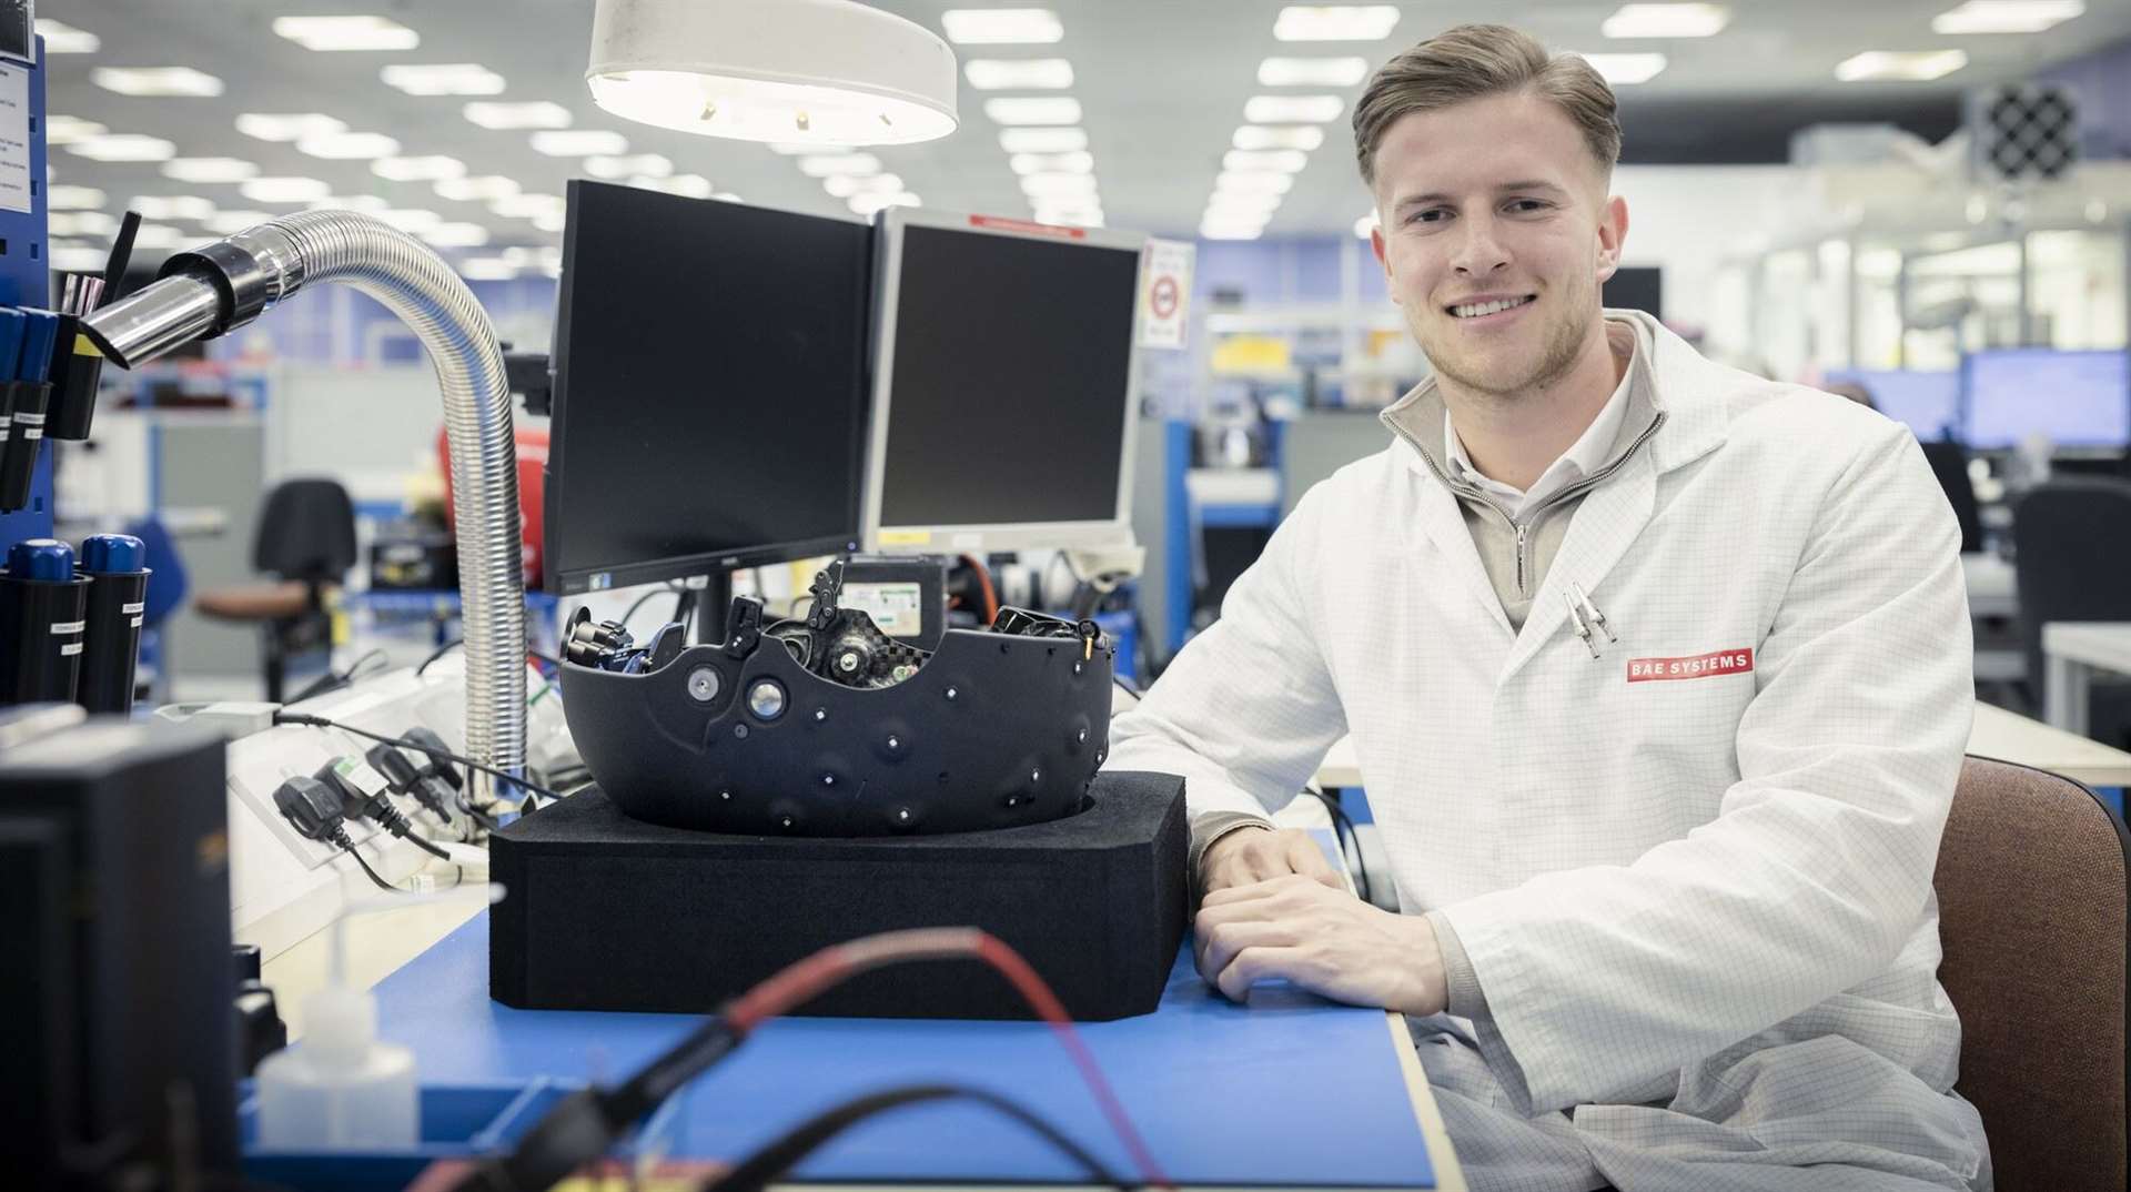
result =
[[[1613,87],[1575,53],[1549,55],[1539,38],[1509,26],[1458,26],[1383,64],[1353,107],[1353,151],[1362,181],[1377,183],[1377,145],[1400,117],[1483,96],[1530,92],[1553,102],[1603,173],[1620,160]]]

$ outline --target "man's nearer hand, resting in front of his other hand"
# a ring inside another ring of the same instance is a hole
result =
[[[1251,983],[1285,977],[1357,1006],[1432,1015],[1449,1004],[1428,919],[1379,911],[1302,874],[1208,893],[1195,930],[1200,974],[1236,1002]]]

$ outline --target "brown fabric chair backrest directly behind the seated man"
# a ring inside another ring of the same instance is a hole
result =
[[[1939,844],[1939,983],[1999,1192],[2122,1192],[2125,855],[2086,787],[1967,759]]]

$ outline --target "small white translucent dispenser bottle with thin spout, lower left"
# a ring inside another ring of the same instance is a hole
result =
[[[303,1002],[303,1038],[260,1060],[258,1145],[273,1151],[411,1151],[422,1139],[413,1051],[377,1041],[377,998],[347,985],[343,923],[332,972]]]

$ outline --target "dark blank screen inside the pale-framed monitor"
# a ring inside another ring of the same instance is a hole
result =
[[[1140,254],[906,226],[880,525],[1117,520]]]

